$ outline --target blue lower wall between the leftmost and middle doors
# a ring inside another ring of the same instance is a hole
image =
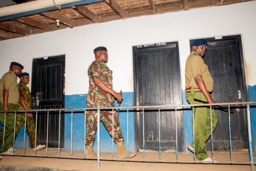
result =
[[[133,92],[123,92],[124,99],[120,104],[121,107],[133,106]],[[118,103],[115,100],[115,105]],[[65,108],[85,108],[86,95],[66,95]],[[127,109],[120,109],[119,112],[120,127],[124,137],[124,145],[127,148]],[[84,151],[84,111],[73,112],[73,150]],[[116,143],[114,151],[117,152]],[[97,150],[97,132],[93,149]],[[71,112],[65,114],[65,150],[71,150]],[[100,150],[101,152],[112,152],[112,137],[109,135],[103,123],[100,123]],[[129,151],[135,151],[134,139],[134,120],[133,112],[129,112]]]

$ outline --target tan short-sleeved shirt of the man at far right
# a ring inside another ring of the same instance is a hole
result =
[[[195,77],[198,75],[202,76],[207,91],[211,92],[213,90],[213,80],[208,70],[208,66],[203,62],[201,56],[192,51],[187,58],[185,68],[186,89],[190,87],[198,88],[195,82]]]

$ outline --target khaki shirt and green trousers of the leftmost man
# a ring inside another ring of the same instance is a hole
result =
[[[7,72],[0,80],[0,111],[3,111],[3,89],[5,88],[9,90],[8,107],[10,110],[15,110],[19,101],[19,91],[17,85],[17,76],[12,71]],[[6,115],[5,121],[5,113],[0,113],[1,124],[5,125],[5,144],[3,145],[0,143],[1,151],[2,147],[4,146],[3,152],[6,152],[9,149],[11,141],[13,141],[14,117],[14,113],[9,113],[9,115]],[[3,130],[4,127],[0,131],[0,142],[3,142]]]

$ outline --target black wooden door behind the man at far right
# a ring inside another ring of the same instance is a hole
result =
[[[248,100],[241,35],[223,36],[222,39],[208,38],[203,60],[214,80],[211,97],[216,103]],[[236,109],[235,106],[233,108]],[[212,137],[214,150],[230,150],[228,112],[217,109],[215,112],[219,120]],[[246,109],[231,113],[230,120],[232,149],[248,148]],[[210,139],[206,143],[206,149],[211,150]]]

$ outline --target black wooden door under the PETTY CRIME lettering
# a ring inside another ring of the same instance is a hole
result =
[[[133,47],[135,105],[170,105],[181,103],[178,42],[163,46]],[[156,44],[155,44],[156,45]],[[143,116],[137,112],[137,147],[143,149]],[[146,150],[159,150],[158,109],[144,111]],[[176,148],[175,112],[160,111],[161,150]],[[178,150],[183,151],[183,113],[177,112]]]

